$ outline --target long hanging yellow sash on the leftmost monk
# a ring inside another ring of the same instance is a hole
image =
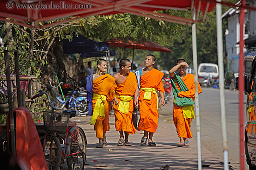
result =
[[[93,93],[93,99],[97,99],[94,106],[94,113],[90,125],[95,125],[98,116],[105,117],[105,95]]]

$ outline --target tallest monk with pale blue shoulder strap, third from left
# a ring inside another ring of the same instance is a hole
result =
[[[141,145],[155,146],[153,134],[158,126],[158,96],[155,90],[160,92],[161,104],[165,105],[163,97],[163,73],[153,68],[155,56],[149,54],[144,61],[145,68],[136,71],[138,87],[135,92],[135,107],[139,106],[141,119],[138,131],[144,131],[141,138]],[[139,97],[138,97],[139,96]],[[149,135],[148,135],[149,133]]]

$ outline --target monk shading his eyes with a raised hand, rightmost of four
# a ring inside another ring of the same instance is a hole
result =
[[[176,87],[178,90],[181,90],[176,77],[175,71],[179,71],[179,76],[182,78],[182,81],[185,83],[188,91],[181,91],[178,93],[179,97],[188,97],[193,101],[195,100],[195,82],[194,75],[186,73],[186,67],[189,67],[188,63],[184,59],[177,60],[177,65],[175,65],[172,69],[170,69],[170,77],[174,80]],[[198,94],[202,93],[202,89],[198,83]],[[175,100],[175,99],[174,99]],[[173,105],[173,121],[177,129],[177,134],[180,138],[180,143],[177,146],[189,146],[188,138],[192,138],[192,133],[190,130],[190,124],[192,119],[195,119],[194,113],[194,105],[186,107],[186,111],[184,112],[184,108],[178,107],[175,104]]]

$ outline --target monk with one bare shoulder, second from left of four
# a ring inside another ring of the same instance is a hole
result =
[[[134,110],[133,96],[137,89],[135,73],[130,72],[131,62],[123,58],[119,63],[120,71],[114,75],[117,88],[115,89],[118,105],[114,105],[115,111],[115,129],[120,133],[118,145],[131,146],[128,142],[129,134],[136,132],[132,122]],[[124,135],[123,135],[124,132]]]

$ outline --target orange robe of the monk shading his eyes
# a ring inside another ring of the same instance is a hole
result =
[[[178,95],[180,97],[189,97],[193,101],[195,100],[195,82],[194,82],[194,75],[188,74],[182,78],[182,81],[186,84],[188,91],[184,92],[181,91]],[[181,90],[179,84],[175,82],[176,87],[178,90]],[[198,83],[198,94],[202,93],[201,86]],[[179,137],[182,138],[192,138],[192,133],[190,130],[190,124],[192,118],[185,119],[182,111],[182,107],[178,107],[173,104],[173,121],[177,129],[177,134]]]

